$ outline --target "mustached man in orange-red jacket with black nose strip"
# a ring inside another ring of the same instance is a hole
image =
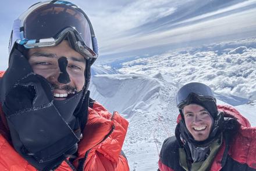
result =
[[[129,170],[128,122],[90,99],[97,57],[90,20],[73,3],[35,3],[15,20],[0,72],[0,170]]]

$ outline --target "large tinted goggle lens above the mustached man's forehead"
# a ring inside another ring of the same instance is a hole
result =
[[[72,6],[56,3],[40,6],[27,16],[23,25],[24,38],[37,40],[56,39],[65,28],[73,27],[92,49],[90,25],[84,14]]]

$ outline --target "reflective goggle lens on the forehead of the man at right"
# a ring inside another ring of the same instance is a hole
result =
[[[189,83],[180,88],[176,95],[177,107],[180,107],[186,103],[187,98],[190,94],[196,94],[201,100],[214,99],[214,93],[212,90],[202,83]]]

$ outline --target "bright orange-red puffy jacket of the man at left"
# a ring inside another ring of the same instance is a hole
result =
[[[3,72],[0,72],[0,78],[2,75]],[[0,170],[35,171],[36,169],[12,147],[8,125],[1,107],[0,116]],[[129,170],[127,159],[121,154],[127,128],[128,122],[118,112],[111,114],[101,104],[95,102],[92,108],[88,108],[88,121],[84,129],[86,133],[79,142],[79,157],[76,158],[73,165],[77,167],[79,159],[84,158],[87,152],[84,163],[86,171]],[[105,139],[107,135],[108,137]],[[63,161],[56,170],[74,169]]]

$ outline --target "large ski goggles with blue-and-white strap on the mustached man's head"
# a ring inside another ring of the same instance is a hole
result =
[[[97,39],[83,10],[66,1],[40,2],[15,20],[9,50],[15,42],[30,49],[55,46],[63,39],[86,59],[98,57]]]

